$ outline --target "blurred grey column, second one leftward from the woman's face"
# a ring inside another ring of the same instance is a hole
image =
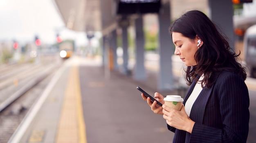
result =
[[[145,67],[144,67],[144,31],[143,31],[143,19],[140,15],[135,20],[135,45],[136,45],[136,64],[135,64],[135,80],[144,80],[146,78]]]

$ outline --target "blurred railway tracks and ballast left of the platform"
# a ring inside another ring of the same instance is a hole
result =
[[[0,66],[0,143],[7,143],[47,86],[58,63]]]

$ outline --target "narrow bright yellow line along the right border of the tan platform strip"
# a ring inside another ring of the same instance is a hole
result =
[[[79,80],[79,66],[76,65],[76,74],[75,74],[75,83],[76,83],[76,108],[77,108],[77,119],[78,119],[78,128],[79,128],[79,143],[87,143],[86,137],[86,129],[85,129],[85,122],[83,117],[83,105],[82,105],[82,98],[81,98],[81,88],[80,88],[80,80]]]

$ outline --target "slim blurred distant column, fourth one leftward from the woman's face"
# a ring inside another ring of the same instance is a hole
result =
[[[113,52],[114,69],[118,69],[117,64],[117,30],[113,30],[111,33],[110,48]]]

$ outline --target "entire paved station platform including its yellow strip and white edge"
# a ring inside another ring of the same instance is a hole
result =
[[[150,95],[181,92],[157,91],[156,72],[146,74],[146,80],[136,81],[132,75],[108,71],[101,60],[72,57],[54,73],[9,142],[172,143],[174,134],[166,121],[151,111],[136,87]],[[250,99],[248,143],[253,143],[256,90],[250,90]]]

